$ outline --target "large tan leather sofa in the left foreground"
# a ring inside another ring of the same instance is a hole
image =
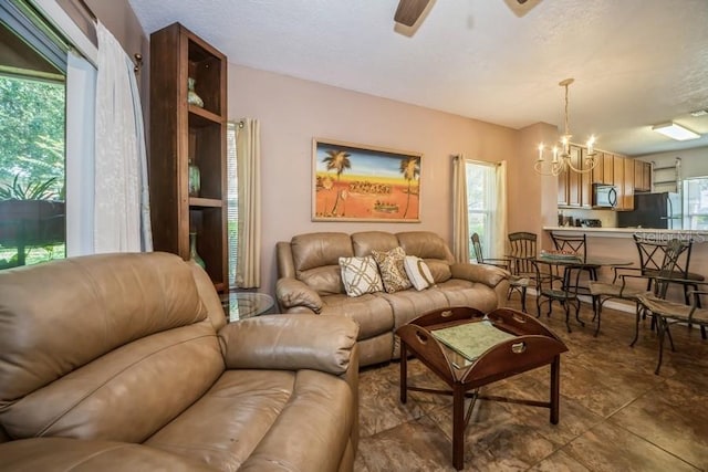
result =
[[[227,324],[176,255],[0,272],[0,470],[351,471],[357,326]]]

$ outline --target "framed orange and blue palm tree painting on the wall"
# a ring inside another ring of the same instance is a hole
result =
[[[420,154],[314,138],[312,155],[313,221],[420,221]]]

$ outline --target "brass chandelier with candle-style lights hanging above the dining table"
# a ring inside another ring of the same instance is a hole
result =
[[[594,149],[595,136],[591,136],[590,139],[587,139],[587,144],[586,144],[587,151],[579,162],[579,165],[582,164],[581,167],[580,168],[575,167],[571,160],[571,137],[572,136],[571,136],[570,127],[568,125],[568,87],[573,82],[575,82],[574,78],[565,78],[559,82],[559,85],[565,88],[565,133],[563,134],[563,136],[561,136],[561,141],[558,143],[552,148],[548,148],[546,146],[543,145],[543,143],[539,145],[539,148],[538,148],[539,158],[535,160],[535,165],[533,166],[533,169],[538,174],[541,174],[542,176],[555,177],[559,174],[562,174],[566,170],[572,170],[573,172],[577,172],[577,174],[587,174],[591,170],[593,170],[595,166],[597,166],[597,159],[595,158],[597,153],[595,153],[595,149]],[[550,166],[545,165],[546,159],[544,158],[544,154],[546,150],[550,150],[553,155],[553,158],[550,161]]]

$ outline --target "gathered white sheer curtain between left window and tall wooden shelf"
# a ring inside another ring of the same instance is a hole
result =
[[[153,250],[145,130],[131,57],[96,24],[94,251]]]

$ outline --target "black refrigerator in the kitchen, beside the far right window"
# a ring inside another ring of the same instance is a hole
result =
[[[635,193],[634,210],[618,211],[620,228],[681,229],[680,193]]]

